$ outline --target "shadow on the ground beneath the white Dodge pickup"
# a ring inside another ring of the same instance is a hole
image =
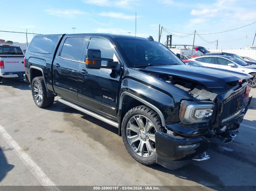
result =
[[[2,78],[0,86],[11,86],[20,90],[31,90],[29,83],[23,81],[24,78]]]

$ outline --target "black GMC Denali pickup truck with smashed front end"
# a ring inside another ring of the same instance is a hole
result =
[[[251,102],[243,100],[250,75],[185,65],[152,37],[37,35],[24,77],[38,107],[59,96],[117,127],[139,163],[169,169],[209,159],[213,137],[231,142]]]

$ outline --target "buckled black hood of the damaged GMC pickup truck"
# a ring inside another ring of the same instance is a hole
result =
[[[227,82],[251,78],[251,75],[245,73],[185,64],[148,66],[140,70],[179,76],[181,78],[190,79],[191,81],[204,84],[207,88],[223,88]]]

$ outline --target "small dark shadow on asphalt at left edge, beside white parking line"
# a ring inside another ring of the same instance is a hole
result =
[[[14,165],[8,164],[4,155],[5,151],[10,151],[11,148],[0,146],[0,182],[4,179],[6,174],[13,169]]]

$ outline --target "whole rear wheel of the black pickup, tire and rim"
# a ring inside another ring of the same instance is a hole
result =
[[[45,81],[42,76],[33,79],[31,90],[34,102],[38,107],[49,107],[53,104],[54,97],[47,97]]]

